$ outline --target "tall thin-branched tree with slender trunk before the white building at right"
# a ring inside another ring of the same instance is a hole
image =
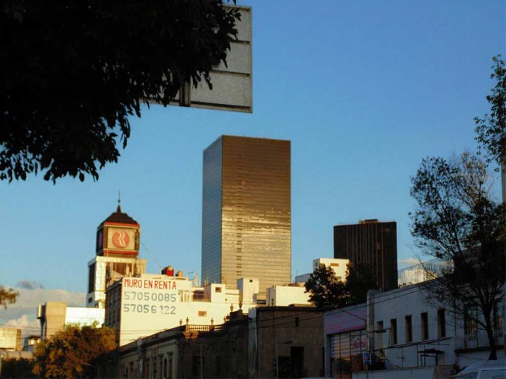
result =
[[[453,265],[427,284],[431,301],[454,304],[462,313],[477,308],[475,321],[486,330],[490,357],[496,356],[491,313],[504,285],[504,204],[491,198],[486,163],[471,155],[447,161],[424,159],[411,179],[416,208],[410,214],[421,252]]]

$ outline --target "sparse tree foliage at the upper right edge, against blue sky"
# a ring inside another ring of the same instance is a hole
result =
[[[494,66],[490,78],[496,83],[487,96],[490,114],[485,114],[483,118],[475,117],[475,131],[480,147],[487,151],[487,162],[494,160],[501,165],[506,159],[506,67],[500,55],[492,60]]]

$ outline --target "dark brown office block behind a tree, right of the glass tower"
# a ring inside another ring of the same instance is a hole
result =
[[[397,223],[361,220],[358,224],[334,226],[334,258],[367,263],[378,286],[397,286]]]

